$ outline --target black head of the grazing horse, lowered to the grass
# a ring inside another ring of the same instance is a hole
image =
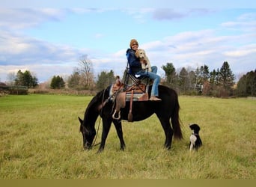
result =
[[[82,132],[83,147],[85,150],[90,150],[94,141],[94,136],[96,135],[95,130],[90,131],[86,128],[85,121],[79,117],[80,122],[80,132]]]

